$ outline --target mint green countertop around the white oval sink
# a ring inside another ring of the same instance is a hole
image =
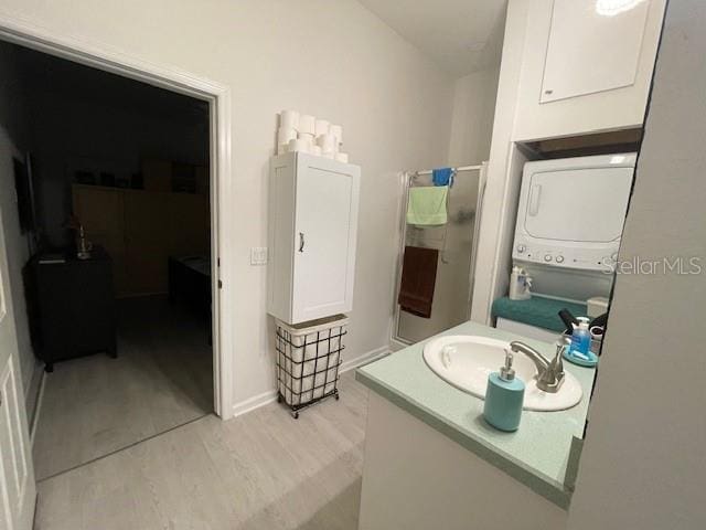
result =
[[[546,342],[523,339],[474,322],[462,324],[439,335],[521,339],[546,357],[555,352],[554,346]],[[573,488],[566,485],[565,478],[571,439],[584,436],[595,370],[565,362],[564,369],[581,383],[581,402],[568,411],[523,411],[520,430],[503,433],[483,420],[483,400],[451,386],[427,367],[421,356],[425,342],[357,369],[356,379],[538,495],[560,508],[568,508]],[[574,458],[575,454],[571,455]]]

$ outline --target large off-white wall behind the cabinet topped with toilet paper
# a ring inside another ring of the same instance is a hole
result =
[[[234,402],[274,388],[265,267],[267,170],[275,114],[297,108],[345,127],[363,167],[356,288],[346,358],[385,347],[393,307],[398,180],[447,158],[452,82],[353,0],[6,0],[28,22],[227,85],[233,180],[222,191],[224,321],[233,326]]]

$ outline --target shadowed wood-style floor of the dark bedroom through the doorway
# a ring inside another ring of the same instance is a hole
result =
[[[33,448],[36,478],[213,412],[206,328],[163,296],[119,300],[118,358],[57,362],[46,374]]]

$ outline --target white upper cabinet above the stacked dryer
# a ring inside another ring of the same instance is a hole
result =
[[[535,0],[514,140],[640,127],[664,0]]]

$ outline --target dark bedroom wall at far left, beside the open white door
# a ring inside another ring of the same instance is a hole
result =
[[[19,360],[22,384],[28,393],[35,373],[36,361],[30,342],[30,328],[24,301],[22,267],[30,257],[29,241],[20,232],[12,158],[24,159],[30,141],[30,130],[23,87],[18,83],[15,56],[12,47],[0,42],[0,157],[3,167],[0,172],[0,214],[4,225],[4,241],[10,268],[12,305],[14,307],[18,333]]]

